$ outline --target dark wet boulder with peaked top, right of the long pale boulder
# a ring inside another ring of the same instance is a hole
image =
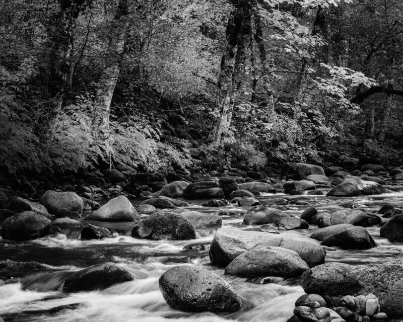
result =
[[[322,241],[323,246],[337,246],[345,250],[366,250],[376,247],[376,243],[367,229],[360,226],[350,227],[327,236]]]

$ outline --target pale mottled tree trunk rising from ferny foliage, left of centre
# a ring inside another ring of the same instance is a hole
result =
[[[110,104],[112,102],[113,92],[115,91],[120,72],[120,59],[124,49],[124,41],[128,25],[126,19],[127,14],[128,0],[120,0],[115,17],[112,20],[107,61],[100,76],[94,101],[91,133],[95,140],[104,142],[106,147],[109,146],[107,143],[110,136]]]

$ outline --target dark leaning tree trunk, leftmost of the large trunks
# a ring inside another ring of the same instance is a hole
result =
[[[54,128],[61,110],[63,97],[68,85],[68,74],[71,68],[73,52],[74,29],[77,18],[83,7],[91,0],[63,0],[60,2],[61,11],[58,16],[56,31],[50,47],[50,75],[48,93],[52,98],[48,112],[42,117],[41,123],[35,129],[35,134],[42,141],[48,141],[53,136]]]

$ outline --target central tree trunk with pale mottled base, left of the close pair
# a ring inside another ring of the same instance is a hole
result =
[[[226,48],[221,58],[221,70],[218,79],[218,94],[214,109],[215,119],[209,141],[221,142],[228,133],[232,119],[232,85],[233,73],[238,49],[238,34],[242,25],[239,11],[233,11],[228,20],[226,30]]]

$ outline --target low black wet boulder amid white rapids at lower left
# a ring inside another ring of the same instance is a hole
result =
[[[103,290],[117,283],[132,281],[133,277],[120,266],[107,262],[90,266],[66,278],[64,292]]]

